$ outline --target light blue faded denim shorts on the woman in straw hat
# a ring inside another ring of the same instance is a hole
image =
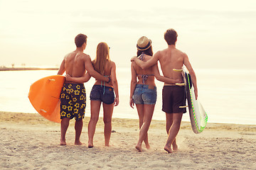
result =
[[[156,86],[137,84],[133,99],[135,104],[156,104]]]

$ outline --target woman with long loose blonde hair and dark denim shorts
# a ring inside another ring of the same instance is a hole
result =
[[[116,65],[110,60],[110,47],[106,42],[97,45],[96,58],[92,61],[94,69],[105,77],[111,77],[110,82],[96,80],[90,93],[91,117],[88,124],[88,147],[93,147],[93,137],[97,121],[99,120],[100,106],[103,105],[103,121],[105,123],[105,146],[110,146],[112,131],[112,113],[114,106],[119,104]],[[90,79],[90,74],[84,77],[67,77],[70,81],[85,82]]]

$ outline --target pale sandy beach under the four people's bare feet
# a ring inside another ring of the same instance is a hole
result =
[[[112,120],[111,147],[104,147],[102,119],[93,148],[87,147],[85,118],[81,141],[74,145],[74,120],[67,146],[60,146],[60,125],[39,114],[0,112],[0,169],[256,169],[256,125],[208,123],[199,135],[183,122],[178,152],[168,154],[165,122],[152,120],[151,149],[137,152],[138,120]]]

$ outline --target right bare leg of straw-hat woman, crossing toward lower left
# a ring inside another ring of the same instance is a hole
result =
[[[142,152],[142,142],[143,142],[143,140],[145,140],[145,138],[146,138],[146,141],[148,144],[147,149],[150,148],[147,132],[149,130],[149,126],[150,126],[152,116],[154,113],[154,106],[155,105],[144,104],[144,119],[143,119],[144,123],[139,130],[139,141],[135,147],[139,152]]]

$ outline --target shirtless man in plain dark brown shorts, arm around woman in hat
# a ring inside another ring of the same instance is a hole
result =
[[[176,49],[177,36],[178,35],[174,29],[166,30],[166,33],[164,33],[164,39],[168,44],[166,49],[156,52],[151,60],[148,60],[147,62],[142,62],[142,60],[139,60],[137,57],[132,57],[131,61],[136,62],[142,69],[149,68],[159,61],[164,77],[180,80],[183,80],[181,73],[174,72],[173,69],[182,69],[184,64],[191,74],[197,98],[198,90],[196,85],[196,74],[191,67],[191,63],[189,62],[186,53]],[[162,111],[166,113],[166,132],[168,134],[164,149],[166,152],[171,153],[171,145],[174,150],[178,149],[176,136],[178,135],[178,130],[181,126],[182,115],[183,113],[186,113],[186,108],[179,108],[179,106],[185,106],[186,104],[184,86],[164,83],[162,98]]]

